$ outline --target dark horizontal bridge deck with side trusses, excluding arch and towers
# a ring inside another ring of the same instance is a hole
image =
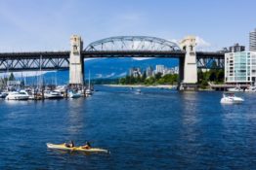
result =
[[[69,68],[70,51],[31,51],[0,53],[0,72],[64,70]],[[84,58],[98,57],[163,57],[185,58],[185,51],[82,51]],[[224,67],[224,53],[197,51],[198,68],[208,68],[215,60]]]

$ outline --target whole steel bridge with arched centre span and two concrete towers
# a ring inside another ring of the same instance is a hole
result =
[[[163,57],[180,60],[180,86],[196,88],[197,69],[209,69],[215,62],[224,68],[224,53],[195,51],[193,36],[180,45],[146,36],[119,36],[99,40],[83,49],[80,36],[70,38],[70,51],[35,51],[0,53],[0,72],[50,71],[69,69],[69,84],[84,84],[84,58]]]

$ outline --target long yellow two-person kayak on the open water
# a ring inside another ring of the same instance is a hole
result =
[[[47,148],[49,149],[56,149],[56,150],[64,150],[64,151],[71,151],[71,152],[85,152],[85,153],[109,153],[107,150],[98,149],[98,148],[91,148],[91,149],[83,149],[82,147],[73,147],[68,148],[65,147],[64,144],[50,144],[47,143]]]

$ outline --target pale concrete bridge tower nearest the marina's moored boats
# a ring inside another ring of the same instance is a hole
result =
[[[81,51],[83,51],[83,41],[81,37],[72,35],[70,45],[69,85],[84,85],[84,61],[81,55]]]

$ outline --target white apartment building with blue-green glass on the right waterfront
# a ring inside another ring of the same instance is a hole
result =
[[[225,53],[225,82],[251,85],[256,81],[256,51]]]

